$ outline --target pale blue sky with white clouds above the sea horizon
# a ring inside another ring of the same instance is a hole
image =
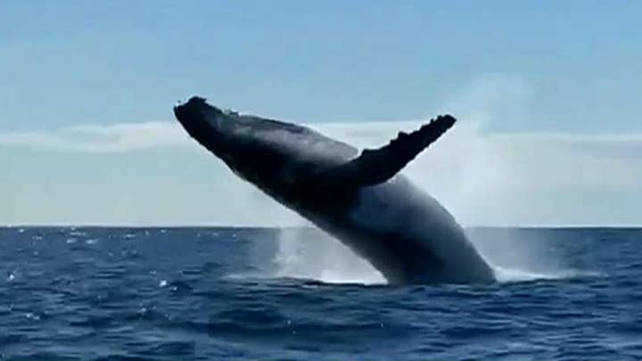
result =
[[[283,225],[177,127],[192,94],[359,147],[466,226],[640,225],[642,3],[0,2],[0,224]]]

